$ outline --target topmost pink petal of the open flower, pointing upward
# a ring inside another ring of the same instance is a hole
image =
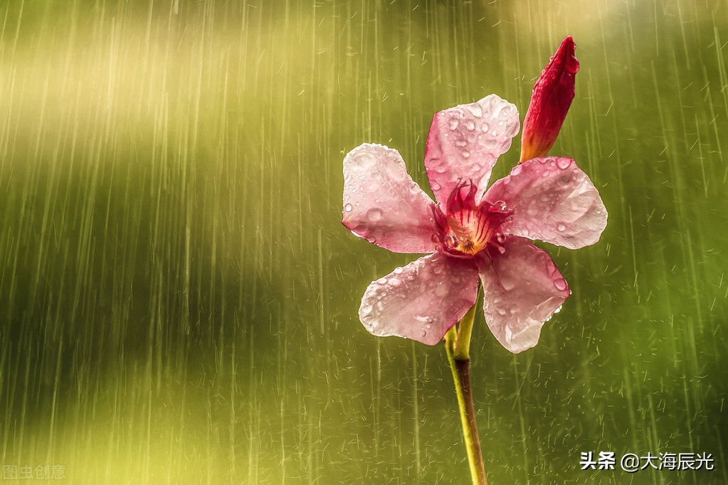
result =
[[[479,189],[475,200],[480,201],[491,169],[508,151],[516,133],[518,110],[496,95],[435,113],[427,135],[424,167],[443,212],[459,180],[472,180]]]

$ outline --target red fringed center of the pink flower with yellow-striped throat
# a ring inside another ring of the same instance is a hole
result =
[[[432,207],[435,215],[432,241],[438,251],[455,257],[472,257],[486,249],[510,215],[503,203],[481,201],[476,205],[477,191],[472,181],[461,182],[448,198],[446,215],[438,207]]]

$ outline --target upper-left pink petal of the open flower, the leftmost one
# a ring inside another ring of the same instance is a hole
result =
[[[434,252],[433,205],[396,150],[365,143],[344,159],[341,223],[357,236],[393,252]]]

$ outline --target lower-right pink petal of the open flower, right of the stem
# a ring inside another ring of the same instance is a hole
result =
[[[513,353],[539,342],[541,327],[569,297],[569,286],[547,252],[528,239],[502,237],[478,260],[483,312],[496,339]]]

